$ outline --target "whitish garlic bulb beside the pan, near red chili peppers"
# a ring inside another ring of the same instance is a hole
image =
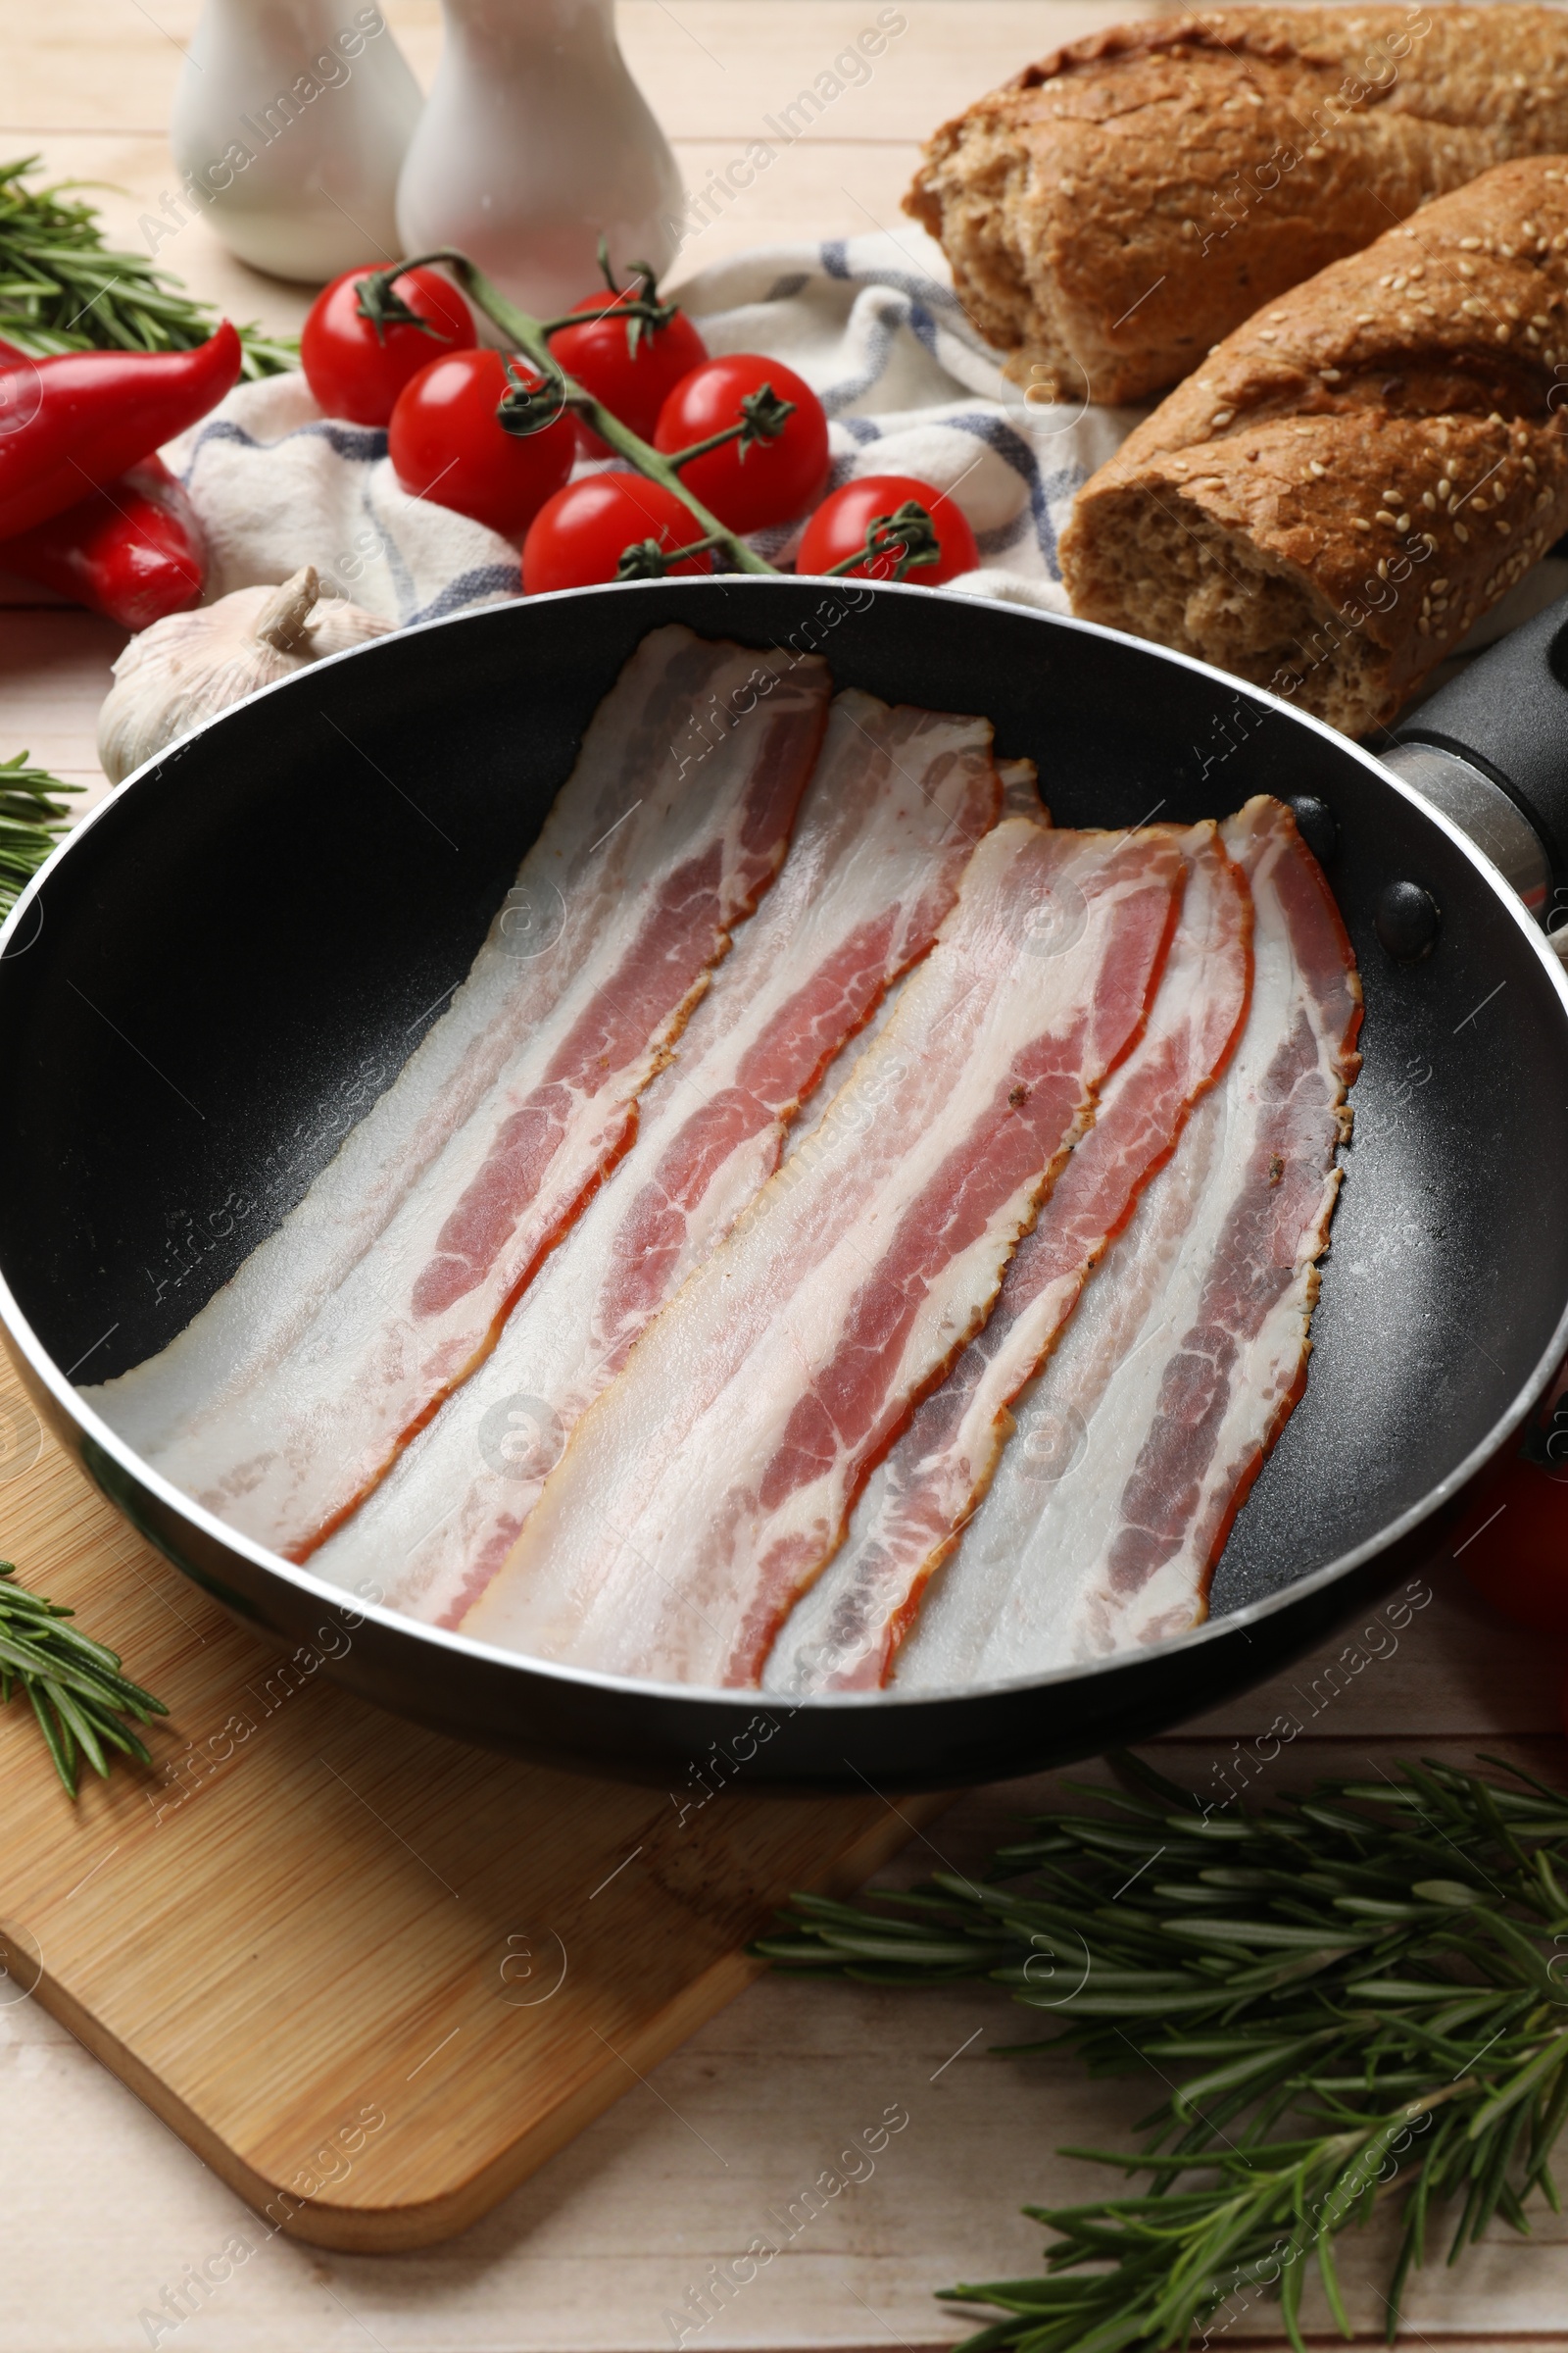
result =
[[[282,588],[235,588],[216,605],[153,621],[115,661],[115,682],[99,711],[103,774],[120,784],[242,694],[322,654],[386,638],[388,628],[357,605],[322,598],[315,565],[303,565]]]

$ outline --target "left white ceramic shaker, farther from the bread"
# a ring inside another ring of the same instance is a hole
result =
[[[374,5],[207,0],[169,146],[230,252],[320,282],[397,259],[397,172],[418,82]]]

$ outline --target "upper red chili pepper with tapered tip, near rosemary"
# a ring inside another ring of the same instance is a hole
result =
[[[223,320],[195,351],[68,351],[0,367],[0,539],[103,489],[240,381]]]

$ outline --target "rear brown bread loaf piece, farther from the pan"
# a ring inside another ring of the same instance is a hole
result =
[[[1140,400],[1427,198],[1568,151],[1547,7],[1234,7],[1095,33],[947,122],[905,195],[1041,400]]]

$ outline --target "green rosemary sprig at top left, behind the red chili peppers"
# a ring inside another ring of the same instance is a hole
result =
[[[0,165],[0,341],[35,358],[56,351],[190,351],[219,313],[186,294],[146,254],[103,242],[92,205],[71,200],[82,181],[28,188],[38,155]],[[299,367],[299,346],[240,327],[247,376]]]

